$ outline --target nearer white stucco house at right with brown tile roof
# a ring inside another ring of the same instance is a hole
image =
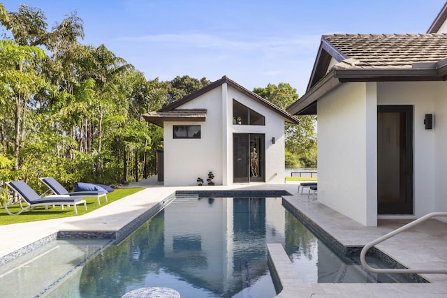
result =
[[[335,34],[306,94],[318,119],[318,201],[366,226],[447,211],[446,6],[427,33]]]

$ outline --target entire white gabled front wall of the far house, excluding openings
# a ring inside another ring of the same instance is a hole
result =
[[[233,125],[233,99],[265,117],[265,126]],[[265,183],[284,184],[284,118],[257,103],[228,84],[184,103],[182,109],[207,109],[205,122],[165,122],[164,185],[206,184],[207,173],[214,173],[217,185],[233,184],[233,133],[265,135]],[[174,125],[200,125],[200,139],[174,139]],[[275,144],[272,144],[275,137]]]

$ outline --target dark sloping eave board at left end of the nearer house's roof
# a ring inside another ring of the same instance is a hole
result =
[[[321,80],[319,80],[312,87],[312,89],[307,91],[305,95],[296,100],[295,103],[289,105],[286,111],[289,114],[298,114],[302,110],[305,110],[307,107],[309,107],[309,105],[315,103],[318,98],[321,98],[321,96],[328,94],[328,92],[332,91],[332,89],[335,89],[340,84],[341,82],[339,81],[339,79],[334,76],[334,70],[330,70],[330,72],[327,73]]]

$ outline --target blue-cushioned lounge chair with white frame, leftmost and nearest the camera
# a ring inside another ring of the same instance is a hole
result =
[[[22,180],[10,181],[6,182],[6,185],[15,191],[20,196],[20,211],[17,213],[13,213],[8,210],[8,203],[5,204],[6,213],[9,215],[18,215],[23,211],[32,210],[36,207],[43,206],[45,209],[48,206],[60,205],[62,209],[64,209],[64,205],[73,205],[75,209],[75,214],[78,214],[78,209],[76,209],[76,205],[84,204],[85,210],[87,210],[87,202],[82,200],[81,197],[68,197],[68,196],[59,196],[59,195],[47,195],[46,197],[41,198],[40,195],[34,191],[28,184],[26,184]],[[26,204],[26,206],[24,206]]]

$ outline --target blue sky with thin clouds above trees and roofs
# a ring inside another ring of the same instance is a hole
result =
[[[321,35],[425,33],[445,0],[3,1],[8,11],[20,3],[41,8],[49,27],[77,11],[82,44],[104,44],[147,80],[227,75],[249,90],[287,82],[302,95]]]

